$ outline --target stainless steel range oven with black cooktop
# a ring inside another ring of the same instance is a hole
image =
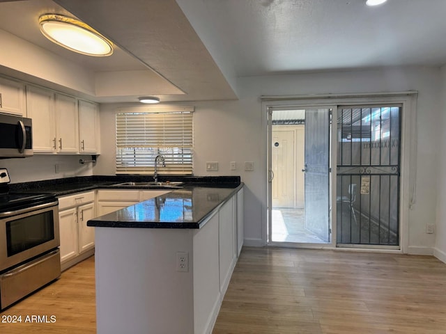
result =
[[[61,275],[57,198],[4,192],[4,173],[0,169],[1,310]]]

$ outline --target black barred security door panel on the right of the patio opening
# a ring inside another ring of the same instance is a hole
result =
[[[337,114],[337,243],[399,246],[401,106]]]

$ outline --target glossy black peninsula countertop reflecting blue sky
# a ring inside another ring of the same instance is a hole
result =
[[[185,186],[88,221],[107,228],[201,228],[206,217],[229,200],[235,188]]]

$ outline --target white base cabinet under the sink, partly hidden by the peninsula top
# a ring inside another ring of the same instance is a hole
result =
[[[137,202],[169,193],[170,190],[98,190],[98,216],[115,212]]]

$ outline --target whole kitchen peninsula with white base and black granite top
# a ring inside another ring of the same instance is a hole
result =
[[[212,331],[243,244],[243,184],[185,184],[87,224],[97,333]]]

